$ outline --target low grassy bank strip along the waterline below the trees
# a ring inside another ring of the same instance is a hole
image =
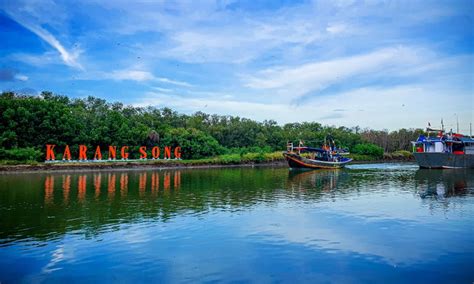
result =
[[[355,159],[352,163],[378,162],[410,162],[413,155],[410,152],[399,152],[385,155],[383,159],[375,159],[368,155],[350,155]],[[75,170],[112,170],[112,169],[167,169],[167,168],[209,168],[233,166],[285,166],[282,152],[247,153],[244,155],[221,155],[213,158],[198,160],[116,160],[116,161],[55,161],[37,162],[28,161],[0,161],[2,172],[30,172],[30,171],[75,171]]]

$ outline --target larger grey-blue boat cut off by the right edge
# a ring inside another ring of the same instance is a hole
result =
[[[474,139],[444,129],[426,129],[428,137],[420,135],[413,141],[413,155],[420,168],[474,168]],[[435,133],[434,135],[432,135]]]

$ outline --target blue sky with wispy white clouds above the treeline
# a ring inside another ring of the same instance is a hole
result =
[[[0,90],[468,131],[473,3],[3,0]]]

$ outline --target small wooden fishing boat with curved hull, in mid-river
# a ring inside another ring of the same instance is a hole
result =
[[[322,148],[304,146],[300,141],[298,147],[293,147],[293,143],[287,144],[287,149],[283,156],[288,161],[290,168],[307,169],[339,169],[343,168],[352,159],[344,157],[347,151],[337,149],[334,145],[327,145]]]

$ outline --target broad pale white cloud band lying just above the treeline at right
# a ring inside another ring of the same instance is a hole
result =
[[[273,100],[235,100],[226,97],[226,94],[196,98],[149,92],[137,99],[135,105],[167,106],[185,113],[204,111],[238,115],[259,121],[274,119],[279,123],[318,121],[348,127],[358,125],[375,129],[397,129],[422,128],[427,120],[436,120],[441,114],[447,117],[448,114],[457,113],[460,121],[470,121],[474,106],[472,102],[466,103],[469,96],[469,93],[463,91],[453,92],[449,86],[432,84],[405,85],[390,89],[360,88],[332,96],[314,97],[303,105]],[[341,112],[341,109],[345,111]]]

